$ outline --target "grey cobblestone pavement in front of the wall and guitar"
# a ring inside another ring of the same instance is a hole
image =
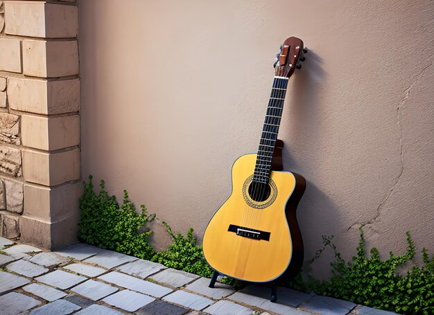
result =
[[[56,252],[0,237],[0,314],[394,314],[345,300],[250,285],[236,291],[162,264],[77,243]]]

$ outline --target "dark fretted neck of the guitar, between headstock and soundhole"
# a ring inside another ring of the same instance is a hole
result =
[[[288,87],[288,78],[275,76],[254,167],[253,181],[259,183],[268,183],[270,179],[272,154],[275,150],[281,113],[284,109],[286,87]]]

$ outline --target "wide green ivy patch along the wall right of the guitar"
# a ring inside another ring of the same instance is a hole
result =
[[[360,235],[357,255],[351,262],[342,259],[336,246],[331,244],[332,237],[323,237],[322,250],[330,246],[335,254],[335,261],[331,262],[333,275],[330,280],[320,281],[311,276],[304,280],[300,274],[290,282],[290,287],[399,314],[434,314],[434,257],[429,258],[426,249],[423,249],[424,266],[414,266],[402,276],[397,269],[415,257],[415,245],[410,233],[406,233],[406,253],[395,256],[390,252],[389,258],[385,260],[381,260],[376,248],[372,248],[370,255],[367,255],[363,228],[360,229]],[[319,257],[322,250],[316,253],[313,260]]]

